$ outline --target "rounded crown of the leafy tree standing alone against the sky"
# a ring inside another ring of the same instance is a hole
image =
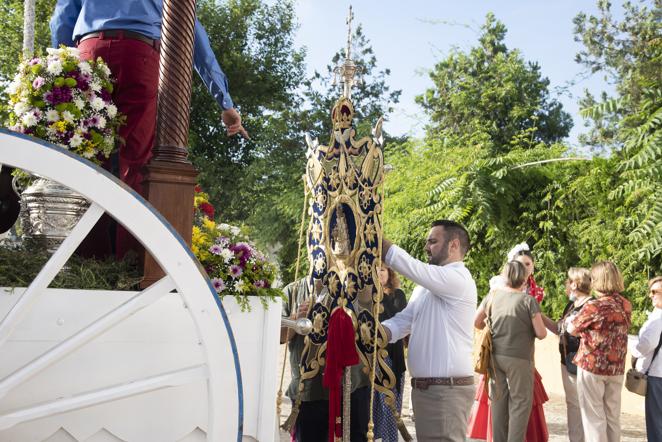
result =
[[[506,27],[493,14],[481,29],[478,46],[437,63],[430,73],[434,87],[416,99],[430,115],[428,136],[486,131],[495,154],[508,152],[517,134],[534,127],[536,142],[565,138],[572,120],[550,97],[540,66],[506,47]]]

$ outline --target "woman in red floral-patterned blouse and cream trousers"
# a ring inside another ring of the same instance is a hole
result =
[[[575,356],[577,392],[586,442],[620,441],[621,389],[625,372],[632,305],[620,293],[623,277],[612,262],[591,268],[596,299],[569,319],[568,332],[579,336]]]

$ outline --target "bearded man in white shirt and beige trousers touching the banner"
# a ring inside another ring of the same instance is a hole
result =
[[[418,286],[407,307],[382,324],[389,342],[409,337],[408,367],[419,442],[464,441],[474,397],[472,367],[476,283],[462,260],[469,234],[454,222],[432,223],[428,263],[384,239],[384,261]]]

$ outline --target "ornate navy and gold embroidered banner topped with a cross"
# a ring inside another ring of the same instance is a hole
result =
[[[350,57],[351,19],[350,7],[346,57],[335,69],[343,85],[343,95],[331,111],[333,129],[329,143],[320,145],[306,136],[305,183],[306,194],[310,195],[306,245],[308,293],[312,301],[308,318],[313,331],[304,339],[299,397],[288,422],[291,424],[296,419],[305,382],[321,376],[327,362],[331,315],[336,309],[344,309],[352,318],[354,344],[362,373],[373,387],[372,394],[374,389],[384,393],[385,402],[404,430],[403,436],[411,440],[395,408],[392,390],[396,379],[385,361],[387,339],[379,323],[383,310],[378,277],[382,260],[382,119],[376,123],[371,137],[356,139],[351,92],[361,68]],[[346,376],[346,392],[348,381]],[[372,440],[372,428],[371,418],[369,440]]]

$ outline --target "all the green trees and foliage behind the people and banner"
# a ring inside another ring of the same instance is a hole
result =
[[[38,50],[48,45],[54,3],[37,0]],[[481,294],[510,247],[526,241],[546,288],[543,307],[555,317],[565,303],[568,267],[613,260],[625,276],[636,329],[650,309],[646,280],[662,273],[662,1],[626,2],[620,21],[608,1],[597,5],[595,16],[574,19],[582,44],[576,61],[587,75],[607,76],[616,92],[580,99],[589,122],[582,149],[564,144],[572,121],[541,66],[508,48],[505,25],[488,14],[473,48],[453,50],[431,66],[433,86],[417,98],[429,115],[425,138],[386,136],[393,171],[386,179],[384,225],[390,239],[422,258],[431,221],[464,223],[473,239],[467,264]],[[19,61],[22,8],[22,0],[0,4],[0,83]],[[225,135],[220,109],[196,77],[191,159],[223,221],[249,226],[278,257],[288,281],[303,204],[303,136],[327,141],[329,112],[339,95],[331,72],[341,53],[305,77],[305,48],[294,44],[292,0],[200,0],[198,16],[251,140]],[[360,26],[354,41],[366,71],[353,97],[356,123],[367,134],[400,91],[391,89],[390,72],[379,65]],[[531,164],[575,156],[588,160]]]

